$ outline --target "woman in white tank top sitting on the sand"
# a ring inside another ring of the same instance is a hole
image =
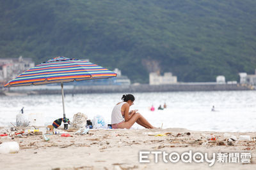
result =
[[[130,129],[135,122],[148,129],[154,128],[140,113],[136,113],[138,110],[129,112],[129,108],[135,100],[132,94],[123,95],[122,99],[124,102],[116,104],[112,111],[111,124],[113,129]]]

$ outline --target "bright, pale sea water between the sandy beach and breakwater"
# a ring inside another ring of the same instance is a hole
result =
[[[67,94],[65,112],[72,121],[81,112],[93,119],[102,115],[111,123],[111,111],[121,101],[122,93],[113,94]],[[195,131],[255,132],[256,91],[214,92],[147,92],[134,93],[131,110],[138,109],[155,127],[181,127]],[[157,110],[166,103],[167,108]],[[156,108],[150,111],[151,106]],[[216,111],[211,111],[212,106]],[[15,123],[15,117],[24,107],[24,113],[44,114],[45,124],[52,124],[63,117],[61,95],[1,96],[0,126]],[[135,129],[142,128],[135,124]]]

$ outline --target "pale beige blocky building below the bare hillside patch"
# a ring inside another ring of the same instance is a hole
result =
[[[177,76],[173,76],[170,72],[164,73],[163,76],[160,73],[149,74],[150,85],[170,85],[173,83],[177,83]]]

